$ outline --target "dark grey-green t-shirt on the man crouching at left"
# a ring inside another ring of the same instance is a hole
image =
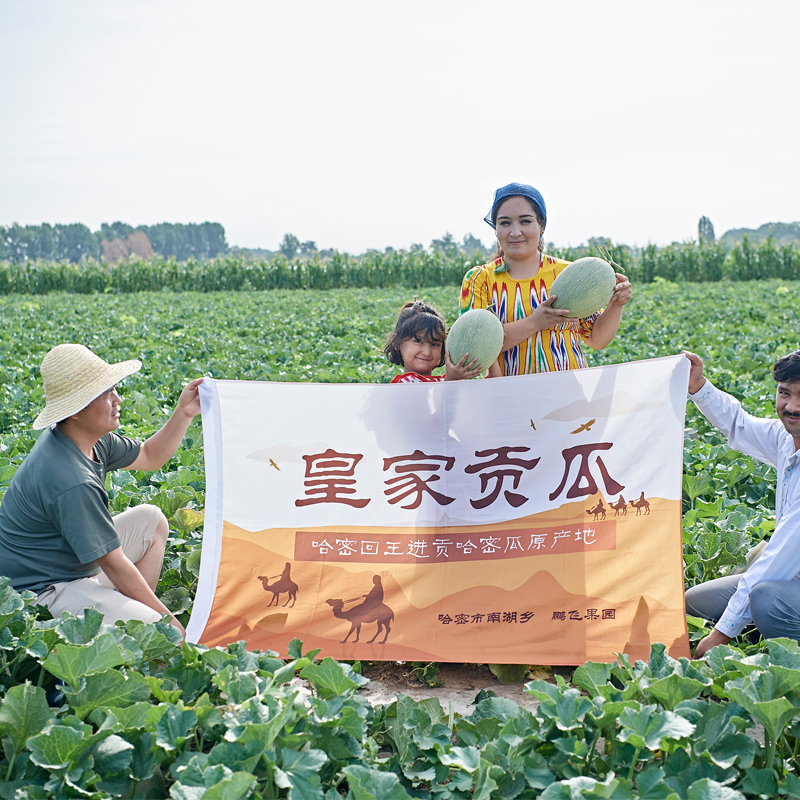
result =
[[[94,561],[119,547],[106,473],[127,467],[140,442],[107,433],[87,458],[57,427],[42,432],[0,504],[0,575],[37,594],[97,574]]]

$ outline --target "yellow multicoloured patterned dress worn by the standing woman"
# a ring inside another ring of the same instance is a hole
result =
[[[502,258],[473,267],[461,285],[461,313],[473,308],[489,308],[503,323],[530,316],[550,296],[553,281],[569,261],[543,255],[536,275],[529,280],[514,280]],[[566,320],[554,328],[540,331],[500,354],[503,375],[528,375],[556,372],[586,366],[582,344],[592,332],[600,312],[585,319]]]

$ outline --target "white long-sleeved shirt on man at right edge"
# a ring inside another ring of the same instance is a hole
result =
[[[775,531],[761,557],[742,575],[725,612],[715,625],[733,638],[750,622],[750,592],[763,581],[800,580],[800,451],[778,419],[753,417],[735,397],[706,380],[689,397],[709,422],[728,437],[728,444],[741,453],[774,467]]]

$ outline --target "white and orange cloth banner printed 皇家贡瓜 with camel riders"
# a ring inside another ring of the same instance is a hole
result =
[[[688,655],[688,372],[672,356],[435,384],[206,379],[190,640],[283,654],[297,637],[375,660],[578,664],[657,640]]]

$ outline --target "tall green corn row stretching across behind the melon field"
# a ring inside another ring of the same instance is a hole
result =
[[[800,279],[800,246],[772,239],[757,245],[747,239],[728,249],[720,242],[648,245],[633,250],[611,246],[614,259],[633,283]],[[589,248],[555,251],[574,260],[595,255]],[[329,259],[270,261],[236,256],[200,260],[153,258],[109,265],[88,260],[0,261],[0,294],[72,292],[125,294],[140,291],[249,291],[265,289],[387,288],[391,286],[458,286],[469,267],[484,258],[440,252],[336,253]]]

